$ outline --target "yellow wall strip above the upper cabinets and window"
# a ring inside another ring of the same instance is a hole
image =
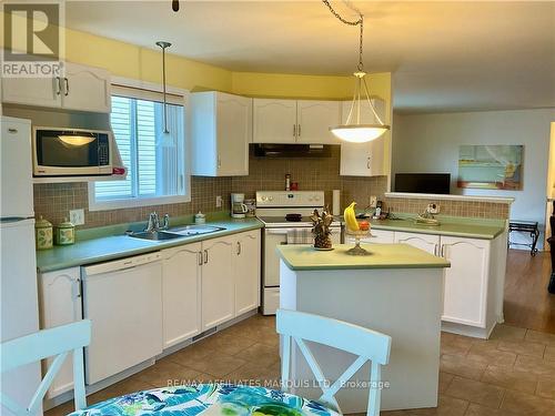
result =
[[[0,17],[3,18],[2,13]],[[3,44],[3,33],[0,33],[0,44]],[[232,72],[171,53],[168,53],[167,58],[168,83],[191,91],[218,90],[273,98],[349,99],[354,88],[354,79],[349,74],[330,77]],[[161,57],[155,47],[142,48],[65,29],[65,59],[105,68],[119,77],[161,82]],[[391,73],[372,74],[369,81],[371,93],[391,103]]]

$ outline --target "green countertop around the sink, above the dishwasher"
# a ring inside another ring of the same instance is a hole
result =
[[[211,234],[184,236],[163,242],[134,239],[124,235],[123,232],[119,232],[117,235],[94,235],[93,237],[90,237],[89,235],[88,240],[78,240],[72,245],[54,246],[50,250],[38,251],[37,268],[40,273],[52,272],[67,267],[81,266],[137,254],[155,252],[182,244],[190,244],[203,240],[236,234],[244,231],[258,230],[264,226],[262,222],[256,219],[220,219],[218,221],[208,221],[206,224],[222,226],[225,227],[225,230]],[[115,227],[111,229],[114,230]],[[94,230],[87,232],[89,234],[99,233]]]

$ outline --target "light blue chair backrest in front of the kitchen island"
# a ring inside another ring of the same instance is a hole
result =
[[[301,349],[314,377],[320,383],[320,387],[323,392],[320,402],[331,406],[337,412],[341,412],[341,409],[335,399],[335,394],[367,361],[370,361],[367,415],[380,415],[381,389],[379,386],[381,382],[381,366],[386,365],[390,361],[390,336],[347,322],[287,310],[278,310],[276,328],[278,333],[283,335],[281,367],[282,389],[285,389],[287,386],[291,367],[291,341],[293,339]],[[316,363],[314,355],[304,341],[311,341],[342,349],[357,355],[359,358],[356,358],[332,385],[329,385],[324,378],[322,368]]]

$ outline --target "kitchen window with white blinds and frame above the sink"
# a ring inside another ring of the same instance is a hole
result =
[[[164,134],[161,93],[112,87],[110,123],[128,175],[93,182],[90,211],[190,201],[184,102],[184,95],[169,95]]]

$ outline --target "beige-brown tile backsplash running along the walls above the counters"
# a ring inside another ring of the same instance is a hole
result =
[[[356,201],[360,209],[370,203],[370,196],[376,195],[384,201],[385,210],[393,212],[422,213],[428,203],[441,205],[441,213],[453,216],[483,219],[508,219],[509,205],[505,203],[433,201],[422,199],[385,197],[387,176],[359,177],[340,176],[340,146],[332,146],[330,158],[256,158],[250,155],[248,176],[234,177],[191,177],[191,202],[129,207],[110,211],[89,211],[87,183],[60,183],[34,185],[34,212],[53,224],[69,216],[73,209],[85,210],[85,223],[82,229],[147,221],[150,212],[158,211],[170,216],[203,212],[229,211],[230,193],[241,192],[246,197],[254,197],[255,191],[283,190],[285,174],[299,183],[301,191],[325,191],[325,203],[332,204],[332,190],[341,190],[342,206]],[[223,206],[216,209],[215,196],[221,195]]]

